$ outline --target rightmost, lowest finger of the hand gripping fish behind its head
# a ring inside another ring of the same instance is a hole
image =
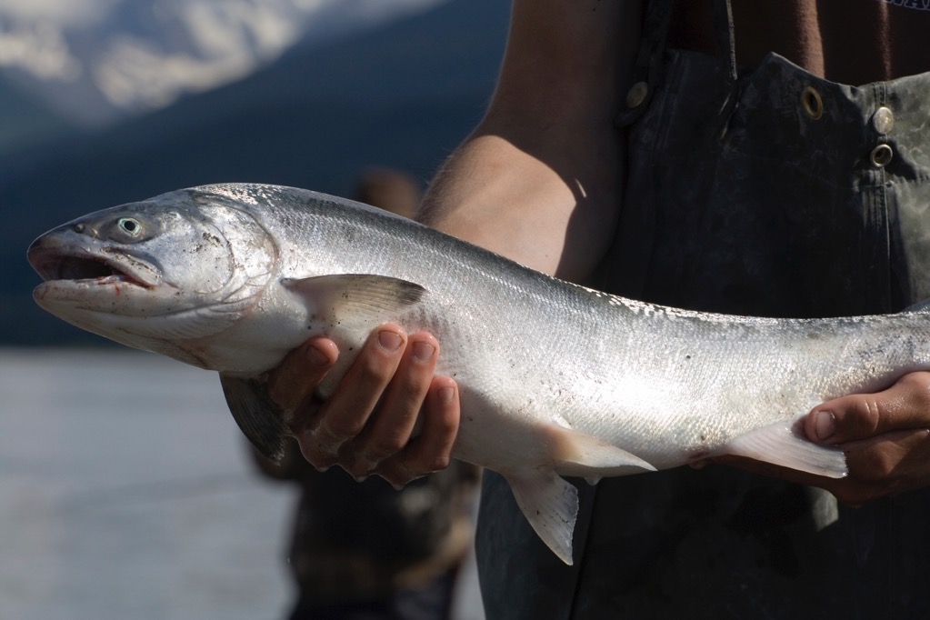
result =
[[[448,376],[432,379],[422,416],[423,428],[404,452],[382,463],[379,474],[400,487],[452,461],[461,419],[458,385]]]

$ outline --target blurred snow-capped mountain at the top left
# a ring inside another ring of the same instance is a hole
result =
[[[0,72],[82,125],[162,108],[445,0],[0,0]]]

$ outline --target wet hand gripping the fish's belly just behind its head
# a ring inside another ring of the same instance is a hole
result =
[[[272,399],[293,412],[288,425],[314,467],[339,465],[356,479],[378,474],[402,486],[451,459],[458,387],[450,377],[433,376],[438,355],[431,334],[408,336],[387,323],[371,333],[326,402],[314,389],[339,358],[326,337],[288,353],[269,387]]]

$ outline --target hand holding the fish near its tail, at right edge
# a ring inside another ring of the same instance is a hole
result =
[[[902,376],[873,394],[824,402],[804,418],[804,433],[812,442],[841,447],[849,475],[823,478],[740,456],[713,460],[821,487],[850,506],[930,486],[930,372]]]

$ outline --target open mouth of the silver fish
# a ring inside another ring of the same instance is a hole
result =
[[[161,280],[149,263],[116,252],[101,256],[73,247],[33,246],[29,262],[44,281],[60,284],[123,283],[152,288]]]

